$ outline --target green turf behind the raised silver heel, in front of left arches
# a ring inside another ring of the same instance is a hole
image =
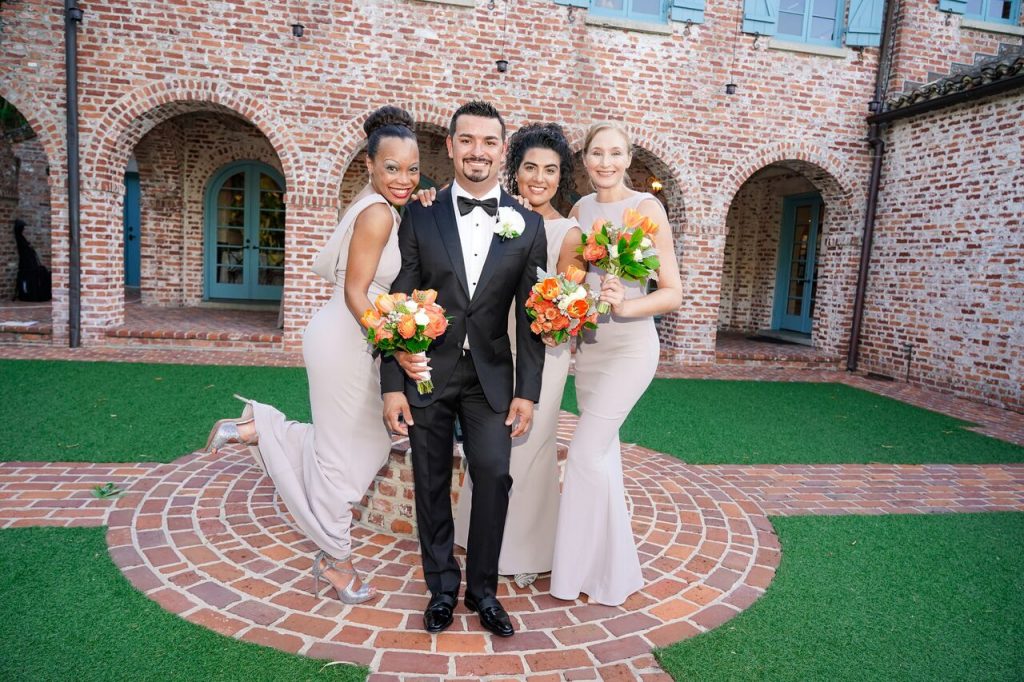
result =
[[[0,460],[170,462],[242,414],[232,393],[309,420],[301,368],[0,360]]]

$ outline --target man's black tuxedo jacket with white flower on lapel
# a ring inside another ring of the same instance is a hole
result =
[[[507,411],[513,395],[535,402],[540,399],[544,343],[529,331],[524,303],[537,283],[537,268],[547,267],[544,220],[504,190],[499,205],[518,211],[526,227],[514,239],[503,240],[498,235],[492,238],[472,299],[451,187],[438,191],[430,207],[424,208],[418,202],[406,206],[398,226],[401,270],[391,291],[409,294],[414,289],[434,289],[437,303],[452,319],[447,331],[427,350],[434,392],[420,395],[415,382],[407,378],[393,357],[385,357],[381,363],[382,392],[404,390],[410,404],[427,407],[452,377],[468,335],[473,365],[495,412]],[[509,307],[513,301],[517,335],[514,389],[508,336]]]

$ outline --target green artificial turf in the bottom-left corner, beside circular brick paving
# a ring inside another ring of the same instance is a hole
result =
[[[0,679],[364,680],[218,635],[136,592],[106,553],[103,528],[0,530]]]

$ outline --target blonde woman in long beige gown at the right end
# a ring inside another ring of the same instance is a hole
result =
[[[598,124],[584,144],[584,166],[597,190],[581,199],[570,215],[588,228],[597,218],[623,224],[636,209],[658,224],[654,246],[662,267],[657,290],[624,282],[591,266],[587,282],[611,305],[595,332],[577,350],[575,388],[580,421],[569,444],[555,537],[551,594],[615,606],[643,587],[623,484],[618,428],[654,377],[658,341],[653,316],[682,302],[672,229],[654,197],[626,186],[631,161],[629,135],[618,126]]]

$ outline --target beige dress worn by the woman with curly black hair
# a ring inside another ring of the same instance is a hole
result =
[[[573,218],[545,220],[548,238],[548,271],[558,267],[558,255],[565,235],[579,227]],[[509,338],[515,353],[515,313],[509,315]],[[569,372],[568,344],[545,348],[541,399],[534,410],[534,424],[525,435],[512,441],[509,473],[512,489],[505,517],[505,536],[498,558],[498,572],[544,573],[551,570],[555,550],[555,519],[558,518],[558,413],[561,410],[565,377]],[[466,547],[469,514],[473,504],[473,481],[466,473],[455,517],[455,542]]]

